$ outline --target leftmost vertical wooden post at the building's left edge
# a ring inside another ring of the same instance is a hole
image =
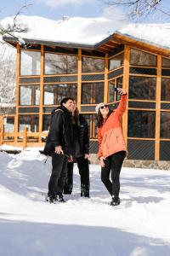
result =
[[[20,102],[20,45],[17,44],[17,55],[16,55],[16,92],[15,92],[15,103],[16,113],[14,117],[14,143],[17,143],[17,132],[19,129],[19,102]]]

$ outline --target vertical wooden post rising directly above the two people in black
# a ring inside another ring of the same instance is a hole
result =
[[[78,49],[77,108],[81,112],[82,102],[82,49]]]

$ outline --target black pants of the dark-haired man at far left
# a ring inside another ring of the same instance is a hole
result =
[[[65,154],[52,154],[52,173],[48,183],[48,195],[55,198],[62,195],[67,175],[68,158]]]

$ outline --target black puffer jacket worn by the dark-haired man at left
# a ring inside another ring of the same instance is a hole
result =
[[[64,154],[72,154],[73,131],[71,116],[71,113],[64,106],[55,110],[50,121],[44,154],[51,154],[56,146],[61,146],[64,150]]]

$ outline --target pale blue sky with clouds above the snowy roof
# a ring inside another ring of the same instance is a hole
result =
[[[0,0],[0,19],[15,15],[17,11],[27,3],[23,15],[38,15],[52,20],[59,20],[63,16],[82,17],[107,17],[111,20],[126,20],[128,22],[125,9],[108,9],[106,0]],[[170,13],[169,0],[161,1],[161,8]],[[141,21],[141,20],[140,20]],[[142,22],[162,23],[170,22],[170,15],[163,15],[161,12]]]

